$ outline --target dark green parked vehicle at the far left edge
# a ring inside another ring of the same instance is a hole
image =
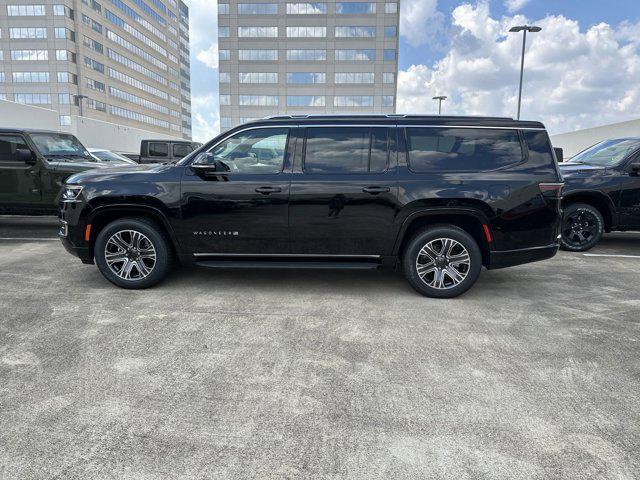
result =
[[[55,215],[69,175],[105,166],[73,135],[0,129],[0,213]]]

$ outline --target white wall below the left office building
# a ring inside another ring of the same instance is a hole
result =
[[[147,139],[183,140],[181,137],[139,128],[102,122],[73,115],[71,125],[59,125],[58,112],[48,108],[0,100],[0,128],[32,128],[74,134],[87,148],[106,148],[122,153],[140,153],[140,141]]]

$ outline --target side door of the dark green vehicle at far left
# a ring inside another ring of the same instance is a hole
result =
[[[42,202],[40,165],[18,158],[17,150],[31,151],[20,134],[0,134],[0,205],[5,208],[37,208]]]

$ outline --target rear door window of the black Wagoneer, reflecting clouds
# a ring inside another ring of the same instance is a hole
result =
[[[307,128],[305,173],[382,173],[387,166],[388,128]]]

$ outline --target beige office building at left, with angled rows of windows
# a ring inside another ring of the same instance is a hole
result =
[[[189,10],[180,0],[7,0],[0,99],[191,138]]]

